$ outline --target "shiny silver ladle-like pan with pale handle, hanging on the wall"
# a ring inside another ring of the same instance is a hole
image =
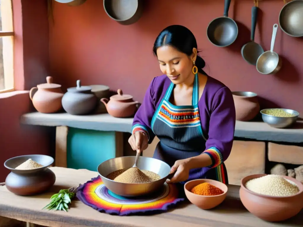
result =
[[[279,55],[274,52],[275,39],[277,35],[278,25],[274,24],[270,51],[265,51],[257,60],[256,68],[257,71],[261,74],[275,74],[277,73],[282,66],[282,60]]]

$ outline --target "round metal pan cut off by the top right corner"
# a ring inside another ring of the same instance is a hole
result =
[[[303,37],[303,0],[286,2],[280,11],[279,25],[282,31],[293,37]]]

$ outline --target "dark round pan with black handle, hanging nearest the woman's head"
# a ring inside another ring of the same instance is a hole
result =
[[[230,2],[231,0],[225,0],[223,17],[215,18],[207,27],[208,40],[218,47],[229,46],[238,36],[237,23],[228,17]]]

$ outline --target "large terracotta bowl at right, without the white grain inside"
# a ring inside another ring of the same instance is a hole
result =
[[[248,190],[245,184],[250,179],[266,176],[255,174],[241,179],[240,199],[245,208],[253,215],[268,222],[279,222],[297,215],[303,208],[303,185],[298,180],[283,176],[294,182],[300,191],[292,196],[266,196]]]

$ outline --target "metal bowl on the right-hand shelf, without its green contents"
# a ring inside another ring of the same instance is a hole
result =
[[[295,114],[295,116],[294,117],[275,117],[275,116],[271,116],[269,114],[263,113],[265,110],[274,110],[274,109],[284,110],[287,113]],[[290,110],[290,109],[283,109],[283,108],[263,109],[260,111],[260,113],[262,114],[262,120],[274,128],[290,127],[293,123],[295,123],[297,121],[297,118],[299,116],[298,111]]]

